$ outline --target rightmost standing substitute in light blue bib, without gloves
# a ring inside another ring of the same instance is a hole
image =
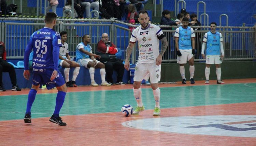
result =
[[[209,84],[210,76],[210,67],[215,64],[216,75],[217,75],[217,84],[225,84],[221,80],[221,63],[224,58],[224,49],[223,49],[223,37],[222,34],[216,32],[216,22],[210,24],[211,31],[204,34],[203,44],[202,44],[202,57],[206,58],[206,67],[205,67],[205,84]],[[206,56],[204,55],[204,49],[206,45]]]

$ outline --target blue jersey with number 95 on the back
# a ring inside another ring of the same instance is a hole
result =
[[[27,44],[28,48],[33,48],[33,70],[55,69],[53,59],[53,49],[61,47],[60,34],[50,28],[42,28],[35,31]],[[56,50],[59,52],[59,50]],[[57,58],[59,56],[56,56]],[[58,60],[57,60],[58,61]],[[58,64],[58,62],[56,62]],[[25,67],[26,69],[26,67]]]

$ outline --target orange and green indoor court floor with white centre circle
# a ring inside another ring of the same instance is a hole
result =
[[[68,88],[60,116],[67,126],[49,122],[57,90],[38,91],[31,124],[24,123],[29,89],[0,92],[1,146],[255,146],[256,78],[210,80],[196,84],[159,84],[161,115],[153,116],[155,100],[142,85],[145,111],[134,109],[132,85]]]

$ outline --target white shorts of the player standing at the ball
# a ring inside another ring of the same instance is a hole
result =
[[[147,74],[150,75],[150,83],[155,84],[161,78],[161,65],[157,66],[154,63],[140,63],[138,62],[135,67],[133,81],[142,81],[146,78]]]

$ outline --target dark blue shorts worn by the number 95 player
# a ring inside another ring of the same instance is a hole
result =
[[[53,69],[43,69],[43,71],[32,71],[32,84],[38,86],[39,84],[45,84],[47,89],[52,89],[54,87],[60,87],[65,84],[64,78],[59,71],[57,71],[57,76],[51,81],[51,76],[53,74]]]

